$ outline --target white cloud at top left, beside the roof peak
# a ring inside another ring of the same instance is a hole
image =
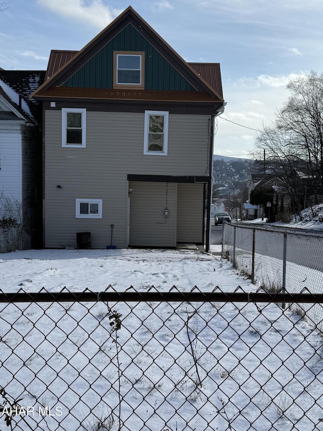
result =
[[[121,12],[104,6],[102,0],[37,0],[37,4],[51,12],[75,22],[102,29]]]

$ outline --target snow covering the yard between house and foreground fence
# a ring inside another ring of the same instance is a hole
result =
[[[0,255],[3,292],[109,285],[256,290],[231,263],[198,251]],[[322,337],[276,304],[4,303],[0,331],[3,402],[23,408],[17,429],[323,429]]]

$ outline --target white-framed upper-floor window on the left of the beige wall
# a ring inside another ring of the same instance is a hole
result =
[[[62,147],[86,147],[86,109],[62,108]]]

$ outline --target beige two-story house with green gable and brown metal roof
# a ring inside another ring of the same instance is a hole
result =
[[[81,51],[52,51],[43,103],[44,246],[204,243],[220,65],[187,63],[131,7]],[[205,204],[206,202],[206,204]]]

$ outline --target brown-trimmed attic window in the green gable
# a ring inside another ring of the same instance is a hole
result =
[[[144,88],[144,53],[114,52],[114,88]]]

